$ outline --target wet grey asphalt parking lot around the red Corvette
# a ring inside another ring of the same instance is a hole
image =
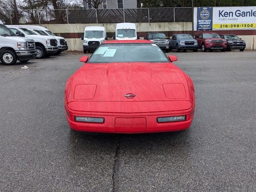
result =
[[[256,188],[256,52],[188,52],[196,113],[183,132],[85,135],[64,115],[82,55],[0,64],[0,191],[244,192]]]

